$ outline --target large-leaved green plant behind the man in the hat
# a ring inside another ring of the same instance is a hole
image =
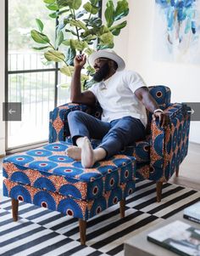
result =
[[[62,63],[60,71],[71,77],[73,60],[77,53],[92,54],[96,49],[114,48],[114,36],[119,36],[127,21],[121,20],[129,13],[127,0],[118,0],[114,6],[113,0],[108,0],[104,12],[106,20],[98,16],[101,11],[100,0],[43,0],[51,11],[49,17],[57,20],[55,40],[51,42],[43,32],[42,20],[36,19],[38,30],[31,30],[31,37],[39,43],[35,50],[44,51],[47,61]],[[116,22],[117,21],[117,22]],[[81,82],[88,86],[88,80],[94,72],[90,65],[86,66],[85,74],[81,74]],[[87,83],[86,83],[87,82]]]

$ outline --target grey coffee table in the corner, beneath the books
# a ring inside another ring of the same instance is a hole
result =
[[[125,256],[177,256],[177,253],[173,253],[164,247],[160,247],[153,242],[147,241],[147,235],[158,228],[167,225],[175,220],[181,220],[193,227],[200,229],[200,224],[197,224],[191,220],[183,218],[183,211],[176,213],[169,219],[164,219],[157,225],[153,225],[151,228],[148,228],[145,231],[137,234],[136,236],[131,237],[127,242],[125,242]]]

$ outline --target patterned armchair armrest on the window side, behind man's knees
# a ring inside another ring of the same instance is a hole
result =
[[[64,141],[69,136],[67,116],[70,111],[90,111],[87,105],[67,103],[54,108],[49,113],[49,143]]]

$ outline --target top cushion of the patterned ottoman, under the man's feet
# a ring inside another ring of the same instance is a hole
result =
[[[119,185],[135,180],[135,158],[115,155],[82,168],[81,162],[66,156],[67,142],[45,145],[3,160],[3,176],[23,185],[58,192],[76,199],[103,196]]]

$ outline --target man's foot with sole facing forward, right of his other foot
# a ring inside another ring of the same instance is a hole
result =
[[[83,138],[81,147],[81,164],[83,168],[92,168],[94,165],[94,151],[90,140],[87,137]]]

